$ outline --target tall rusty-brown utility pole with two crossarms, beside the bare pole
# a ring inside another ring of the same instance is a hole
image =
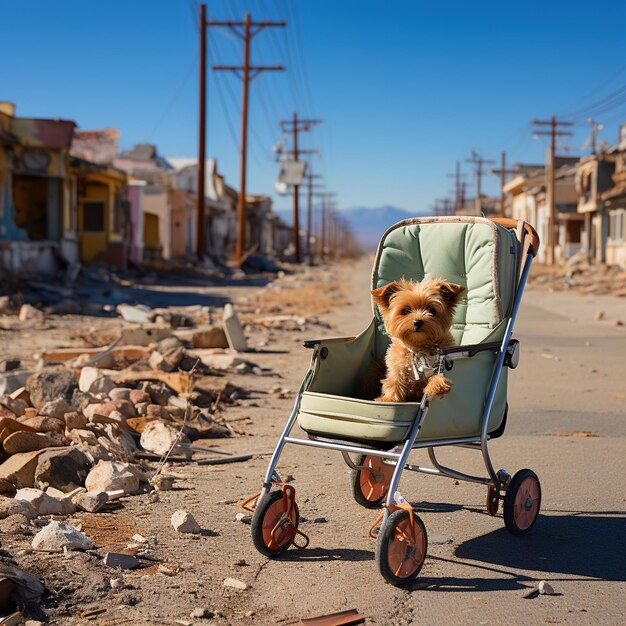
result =
[[[250,19],[250,13],[246,13],[243,22],[220,22],[217,20],[206,21],[206,5],[201,5],[201,19],[203,25],[201,31],[205,27],[210,26],[226,26],[230,28],[237,37],[243,40],[243,65],[214,65],[216,71],[235,72],[240,76],[243,83],[243,98],[241,106],[241,177],[239,182],[239,198],[237,202],[237,240],[235,246],[235,258],[239,265],[243,259],[245,237],[246,237],[246,167],[247,167],[247,151],[248,151],[248,97],[250,91],[250,82],[256,78],[261,72],[281,71],[285,68],[282,65],[251,65],[250,64],[250,44],[252,38],[264,28],[285,26],[286,22],[253,22]],[[240,30],[243,29],[243,30]]]

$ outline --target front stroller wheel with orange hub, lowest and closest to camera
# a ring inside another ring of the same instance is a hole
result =
[[[396,587],[410,583],[426,560],[428,536],[424,522],[405,509],[394,511],[382,525],[376,542],[376,563],[382,577]]]

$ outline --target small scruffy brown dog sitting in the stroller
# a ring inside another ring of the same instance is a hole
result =
[[[391,337],[377,402],[411,402],[424,393],[441,397],[450,391],[452,381],[433,371],[433,356],[454,343],[450,327],[464,289],[427,278],[401,279],[372,291]]]

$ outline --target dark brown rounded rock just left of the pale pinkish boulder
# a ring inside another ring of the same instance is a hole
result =
[[[55,487],[68,493],[83,486],[90,466],[89,459],[75,447],[49,448],[39,455],[35,486]]]

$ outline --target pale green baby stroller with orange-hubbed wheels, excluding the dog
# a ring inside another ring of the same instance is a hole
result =
[[[487,487],[487,511],[503,501],[504,524],[527,533],[541,505],[541,486],[528,469],[511,476],[495,470],[489,442],[503,434],[507,419],[508,370],[519,360],[511,338],[539,238],[529,224],[507,218],[426,217],[392,226],[378,246],[372,288],[407,278],[441,277],[465,287],[451,329],[455,346],[442,350],[439,371],[454,382],[444,398],[381,403],[359,399],[360,382],[375,359],[384,357],[389,337],[380,314],[358,337],[311,340],[311,366],[270,460],[262,491],[246,503],[254,510],[252,539],[268,557],[292,544],[305,547],[298,529],[295,490],[284,484],[276,465],[286,444],[338,450],[352,468],[355,500],[383,510],[370,528],[376,563],[388,582],[402,586],[419,574],[426,558],[426,528],[398,491],[403,470],[446,476]],[[291,431],[298,422],[307,437]],[[442,465],[435,449],[478,450],[487,476],[472,476]],[[431,466],[408,462],[426,448]],[[376,532],[376,527],[378,530]]]

